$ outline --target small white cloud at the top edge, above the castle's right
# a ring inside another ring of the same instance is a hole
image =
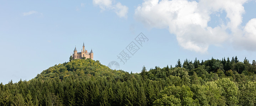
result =
[[[113,10],[118,17],[127,18],[128,7],[122,5],[120,2],[117,2],[117,4],[112,4],[112,2],[112,0],[93,0],[93,4],[101,8],[101,12],[105,10]]]

